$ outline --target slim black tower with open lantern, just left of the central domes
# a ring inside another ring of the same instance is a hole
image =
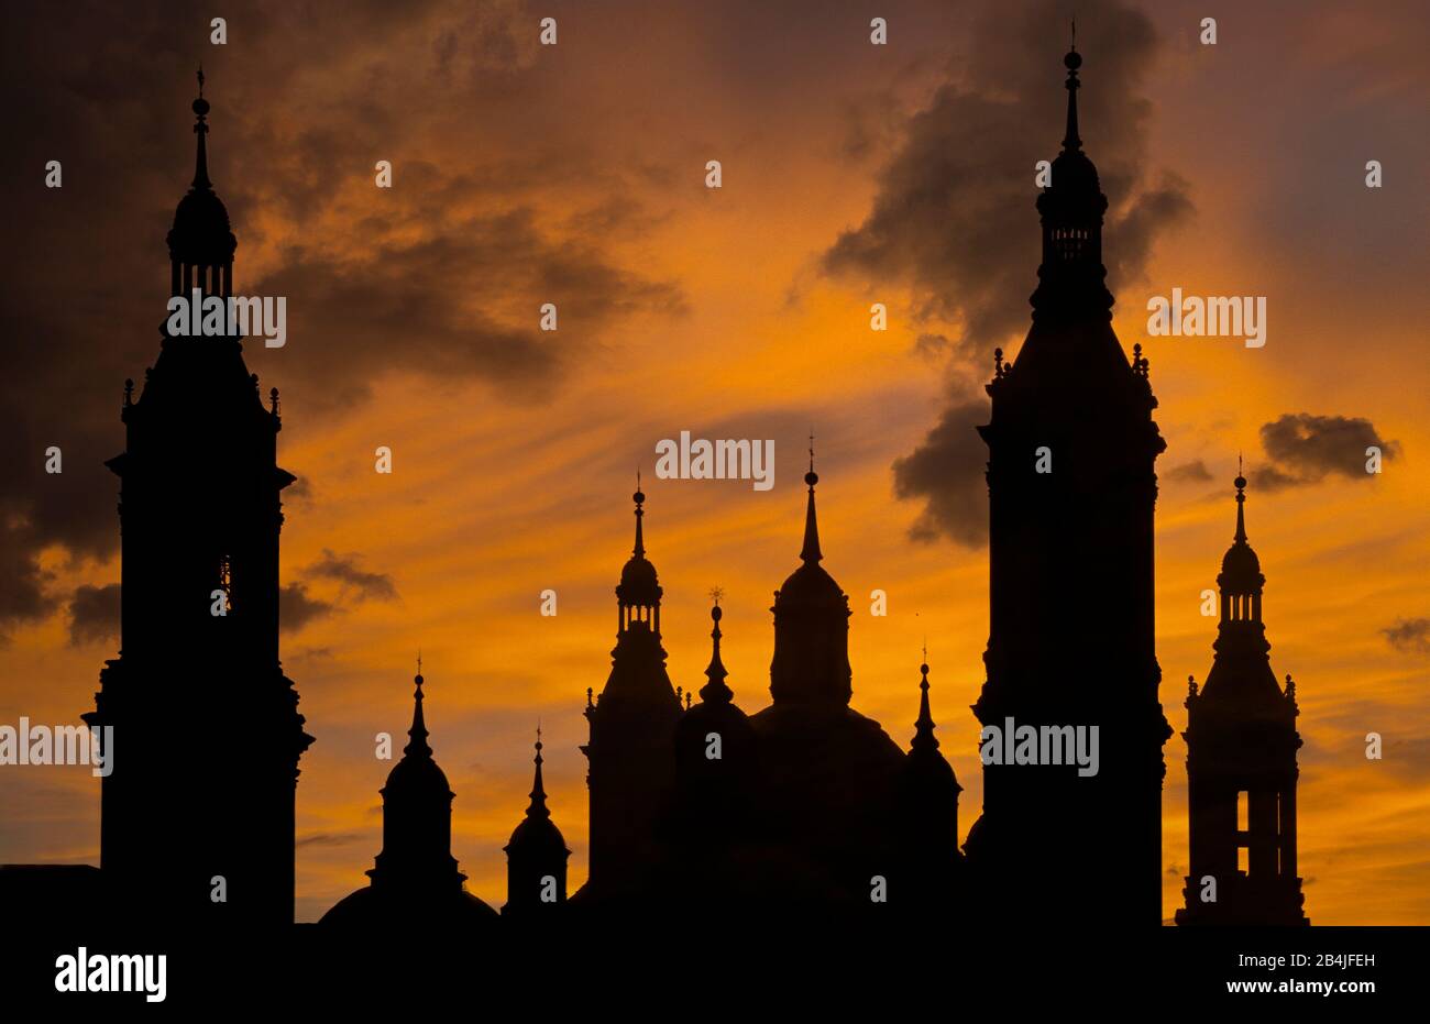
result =
[[[616,646],[598,701],[586,696],[591,739],[591,875],[581,897],[641,888],[662,860],[661,818],[675,785],[672,744],[681,701],[661,646],[661,584],[645,556],[645,493],[636,479],[635,548],[616,586]]]

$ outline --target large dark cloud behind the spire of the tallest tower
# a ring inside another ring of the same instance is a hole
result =
[[[925,332],[919,350],[947,352],[954,380],[987,376],[994,348],[1028,325],[1041,245],[1034,164],[1057,156],[1065,114],[1065,36],[1052,27],[1074,13],[1084,30],[1081,134],[1111,203],[1110,286],[1141,277],[1154,239],[1191,212],[1175,176],[1145,183],[1143,83],[1157,51],[1147,16],[1115,0],[1042,0],[1010,31],[1008,7],[988,6],[967,64],[904,127],[868,217],[822,257],[828,275],[907,286],[921,325],[952,325]],[[894,463],[895,493],[925,502],[912,528],[922,541],[987,539],[987,449],[974,428],[988,406],[967,395],[951,388],[938,425]]]

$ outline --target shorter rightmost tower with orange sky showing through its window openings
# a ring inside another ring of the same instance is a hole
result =
[[[1191,862],[1177,924],[1310,924],[1296,874],[1296,684],[1276,681],[1261,621],[1261,561],[1247,543],[1246,478],[1221,559],[1221,622],[1207,685],[1187,678]]]

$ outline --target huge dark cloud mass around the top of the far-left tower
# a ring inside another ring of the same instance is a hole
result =
[[[676,285],[608,245],[654,223],[629,199],[642,172],[531,130],[559,112],[518,0],[235,0],[223,13],[229,46],[207,43],[207,17],[157,0],[7,19],[0,345],[20,386],[0,405],[0,631],[61,608],[41,549],[72,562],[116,551],[103,461],[124,443],[124,379],[143,380],[159,352],[199,57],[237,290],[289,299],[287,345],[247,353],[265,389],[282,388],[289,432],[368,400],[389,373],[543,399],[626,315],[684,309]],[[378,196],[382,156],[395,187]],[[47,160],[61,162],[63,187],[44,187]],[[538,223],[548,186],[586,213]],[[561,310],[559,335],[536,329],[543,302]],[[43,471],[50,445],[63,473]]]

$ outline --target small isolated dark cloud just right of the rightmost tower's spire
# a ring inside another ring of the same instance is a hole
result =
[[[1251,471],[1266,491],[1316,483],[1327,475],[1371,479],[1366,449],[1379,448],[1383,462],[1400,455],[1400,443],[1384,440],[1369,419],[1288,412],[1261,426],[1261,448],[1271,465]]]

